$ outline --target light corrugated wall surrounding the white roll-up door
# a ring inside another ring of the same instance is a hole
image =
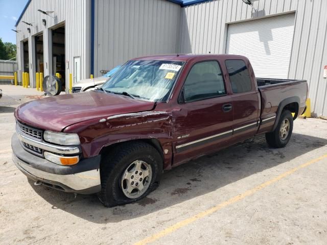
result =
[[[288,78],[308,80],[312,111],[327,115],[327,1],[259,0],[253,7],[219,0],[182,8],[179,52],[225,53],[228,23],[296,11]]]

